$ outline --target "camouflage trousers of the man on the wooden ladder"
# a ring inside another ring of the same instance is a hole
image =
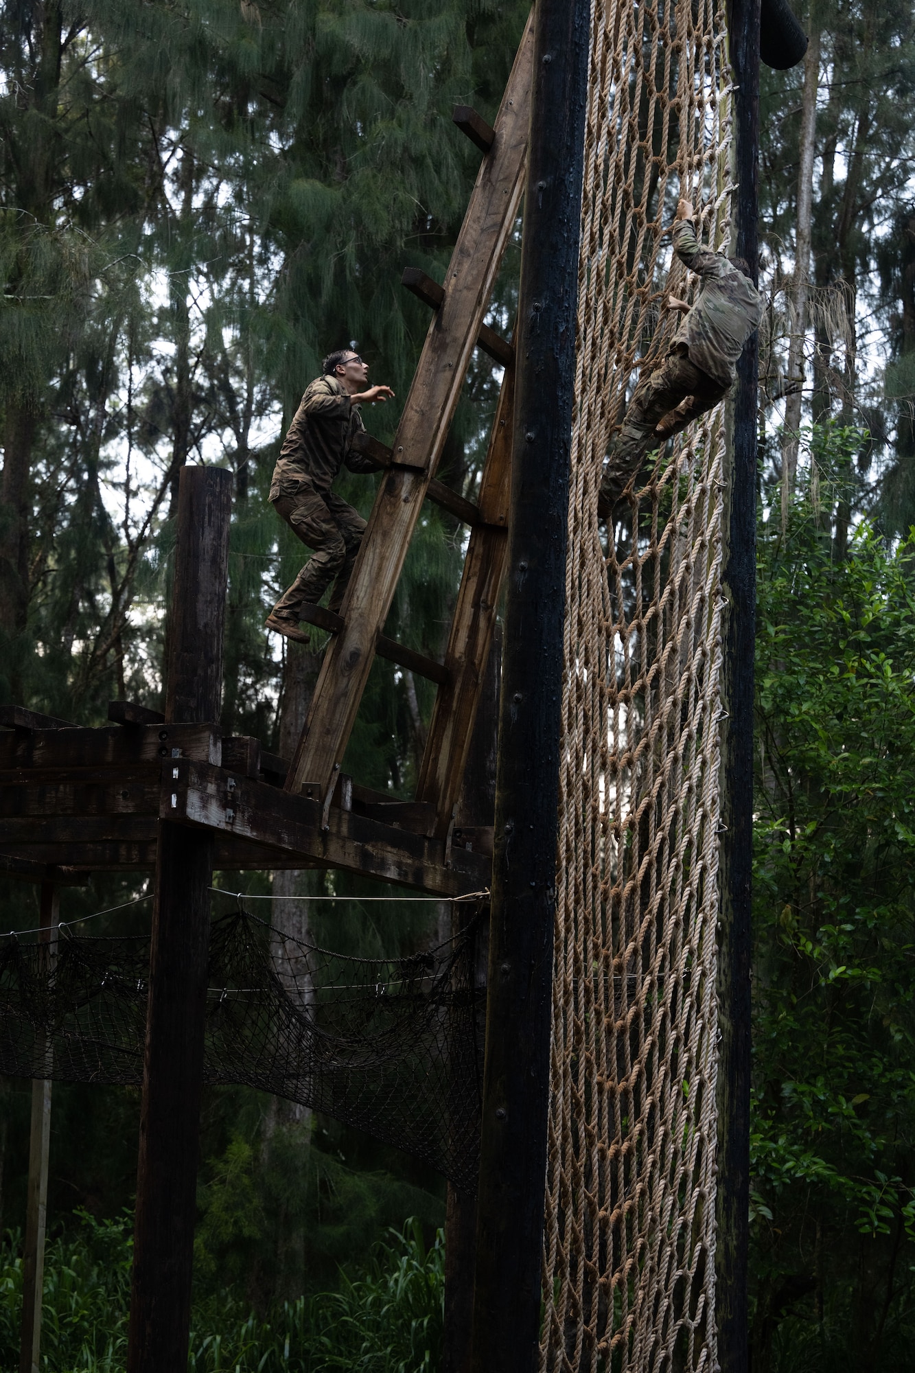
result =
[[[300,486],[295,494],[278,497],[273,508],[302,544],[315,552],[283,592],[272,614],[280,619],[300,619],[300,607],[317,605],[331,582],[334,590],[328,610],[339,610],[365,520],[334,492],[316,492],[313,486]]]

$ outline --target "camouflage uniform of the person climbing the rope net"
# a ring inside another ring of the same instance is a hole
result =
[[[699,295],[673,336],[666,357],[639,379],[622,428],[610,446],[600,483],[602,507],[620,498],[646,454],[679,434],[727,395],[735,365],[762,317],[762,298],[721,253],[699,246],[690,220],[677,220],[673,247],[702,277]],[[670,415],[691,397],[677,415]],[[655,428],[666,420],[664,435]]]

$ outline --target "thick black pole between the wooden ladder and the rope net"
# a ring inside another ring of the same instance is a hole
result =
[[[474,1373],[537,1359],[588,0],[537,0],[499,718]]]

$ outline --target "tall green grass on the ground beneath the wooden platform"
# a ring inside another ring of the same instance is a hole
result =
[[[378,1247],[370,1267],[341,1273],[335,1292],[287,1302],[258,1318],[231,1291],[198,1303],[188,1370],[195,1373],[434,1373],[441,1359],[445,1251],[430,1249],[408,1221]],[[126,1223],[80,1212],[48,1243],[41,1368],[48,1373],[122,1373],[132,1241]],[[0,1369],[19,1361],[22,1258],[18,1236],[0,1247]]]

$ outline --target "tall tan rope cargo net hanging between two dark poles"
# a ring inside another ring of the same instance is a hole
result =
[[[723,408],[600,542],[603,457],[676,328],[677,195],[725,246],[713,0],[596,0],[566,568],[543,1370],[717,1368],[716,923]]]

